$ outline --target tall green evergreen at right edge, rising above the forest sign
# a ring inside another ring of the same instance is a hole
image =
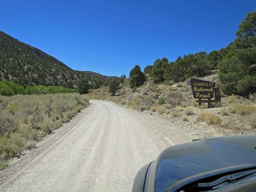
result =
[[[236,35],[218,65],[221,89],[229,95],[249,95],[256,92],[256,11],[247,14]]]

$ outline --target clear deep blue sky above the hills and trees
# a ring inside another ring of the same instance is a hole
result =
[[[0,30],[72,69],[120,76],[223,48],[255,9],[252,0],[1,0]]]

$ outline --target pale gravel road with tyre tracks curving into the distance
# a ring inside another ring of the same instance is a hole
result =
[[[169,121],[111,102],[90,103],[0,171],[0,191],[131,191],[141,166],[191,140]]]

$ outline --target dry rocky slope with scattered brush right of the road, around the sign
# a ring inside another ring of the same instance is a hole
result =
[[[218,84],[217,71],[200,79]],[[256,133],[256,94],[246,98],[222,92],[221,106],[216,103],[215,107],[208,108],[206,103],[199,106],[194,100],[188,80],[166,85],[155,84],[153,78],[147,77],[147,81],[136,89],[131,89],[129,79],[125,79],[115,96],[109,95],[107,87],[93,90],[89,96],[160,116],[198,139]]]

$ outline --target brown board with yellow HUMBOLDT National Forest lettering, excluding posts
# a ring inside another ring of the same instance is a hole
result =
[[[215,83],[200,79],[190,79],[191,90],[194,98],[211,99],[214,97]]]

